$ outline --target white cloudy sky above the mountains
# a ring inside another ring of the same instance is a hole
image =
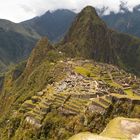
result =
[[[127,1],[130,9],[140,4],[140,0]],[[39,16],[47,10],[75,9],[80,11],[86,5],[94,7],[108,6],[110,10],[118,11],[120,0],[0,0],[0,18],[20,22]]]

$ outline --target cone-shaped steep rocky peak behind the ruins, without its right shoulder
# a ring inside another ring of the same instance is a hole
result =
[[[115,54],[109,39],[108,28],[95,9],[86,7],[75,19],[62,43],[66,53],[72,56],[114,62]]]

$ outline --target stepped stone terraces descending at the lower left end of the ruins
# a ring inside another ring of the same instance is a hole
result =
[[[23,107],[25,110],[27,110],[26,112],[24,111],[25,122],[27,124],[34,125],[37,128],[41,127],[44,117],[50,111],[50,108],[55,100],[55,96],[46,95],[47,93],[43,96],[33,96],[31,100],[28,100],[30,104],[27,104],[27,101],[23,103],[22,109],[20,109],[20,111],[23,110]]]

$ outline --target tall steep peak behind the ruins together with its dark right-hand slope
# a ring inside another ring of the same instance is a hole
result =
[[[71,57],[93,58],[137,74],[140,71],[140,39],[109,29],[90,6],[76,17],[61,48]]]

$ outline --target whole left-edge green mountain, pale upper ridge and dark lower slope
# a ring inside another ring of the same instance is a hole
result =
[[[0,72],[30,54],[40,36],[32,29],[0,20]]]

